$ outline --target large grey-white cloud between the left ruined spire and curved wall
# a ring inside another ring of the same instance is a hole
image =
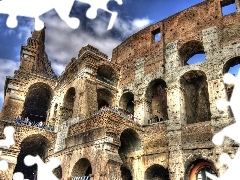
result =
[[[61,74],[63,67],[67,65],[71,58],[77,57],[79,50],[87,44],[93,45],[111,57],[112,49],[121,43],[120,40],[113,37],[96,37],[84,30],[73,30],[59,17],[52,16],[52,14],[43,17],[43,20],[47,27],[46,52],[49,59],[53,61],[52,67],[58,75]],[[93,29],[98,29],[97,34],[104,32],[100,22],[95,22],[92,25],[94,26]],[[107,30],[105,29],[105,31]]]

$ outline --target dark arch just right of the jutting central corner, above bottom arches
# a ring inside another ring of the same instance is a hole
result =
[[[127,154],[141,149],[141,141],[136,131],[125,129],[120,136],[121,146],[118,149],[123,164],[127,166]]]

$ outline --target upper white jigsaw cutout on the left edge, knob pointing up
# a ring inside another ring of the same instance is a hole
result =
[[[15,143],[14,132],[15,129],[12,126],[7,126],[4,128],[3,134],[5,135],[5,139],[0,140],[0,148],[8,149]]]

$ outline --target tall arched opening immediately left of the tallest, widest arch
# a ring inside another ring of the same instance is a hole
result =
[[[146,99],[149,102],[151,122],[168,119],[166,88],[166,82],[162,79],[152,81],[147,88]]]

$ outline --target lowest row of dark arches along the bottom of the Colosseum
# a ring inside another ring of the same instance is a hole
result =
[[[120,167],[121,177],[123,180],[131,180],[132,170],[131,164],[129,164],[131,161],[128,161],[127,155],[141,150],[141,139],[135,130],[128,128],[121,133],[120,142],[118,153],[123,162]],[[20,144],[20,152],[17,157],[17,164],[14,173],[22,172],[25,179],[36,179],[37,165],[25,166],[24,157],[26,155],[39,155],[40,158],[45,161],[48,156],[48,150],[51,146],[52,144],[50,141],[43,135],[33,134],[26,137]],[[203,158],[188,162],[185,171],[185,178],[188,179],[189,177],[189,180],[207,180],[206,171],[218,175],[214,164]],[[61,166],[55,168],[53,172],[57,178],[62,178],[63,174]],[[92,173],[91,162],[87,158],[81,158],[74,164],[71,171],[71,177],[91,176]],[[168,169],[160,164],[151,165],[144,173],[145,180],[168,180],[169,177],[170,174]]]

